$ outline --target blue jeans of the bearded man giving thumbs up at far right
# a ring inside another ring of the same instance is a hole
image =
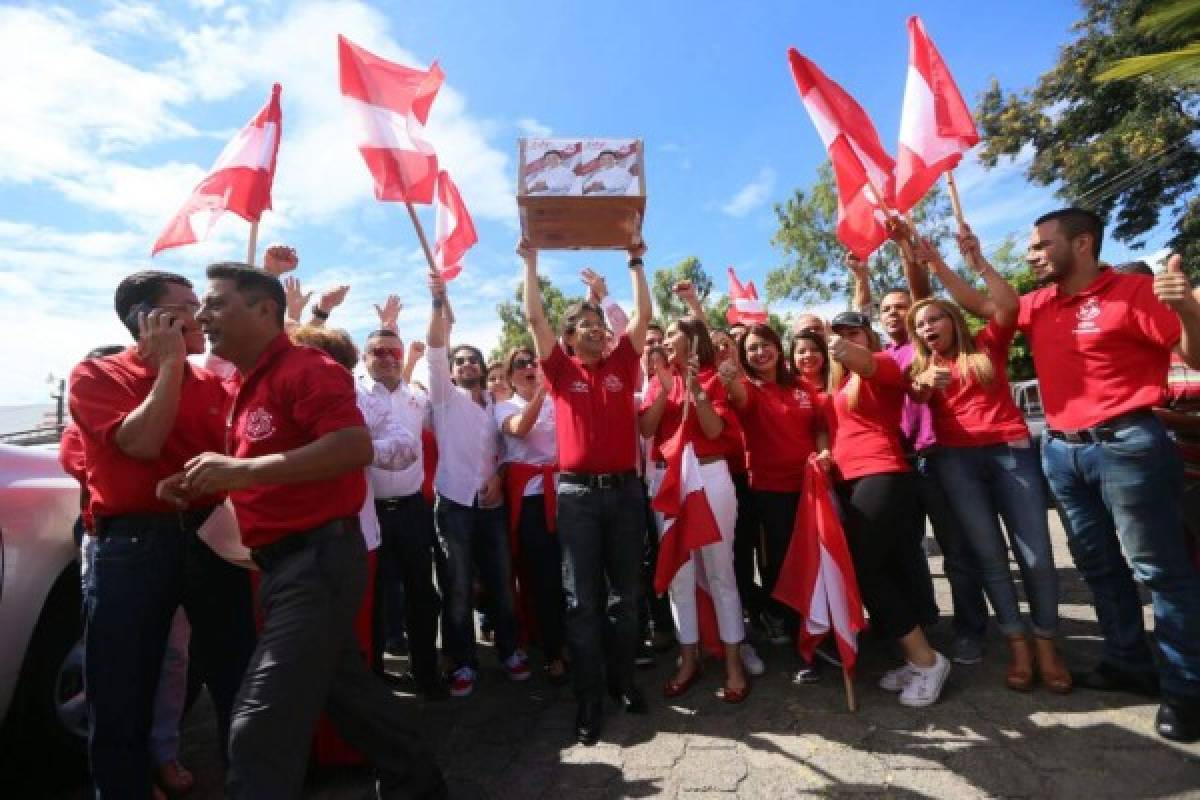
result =
[[[1164,692],[1200,697],[1200,572],[1180,516],[1183,467],[1163,425],[1146,414],[1114,441],[1045,438],[1042,464],[1062,509],[1075,566],[1104,633],[1104,661],[1152,672],[1134,581],[1150,589]]]

